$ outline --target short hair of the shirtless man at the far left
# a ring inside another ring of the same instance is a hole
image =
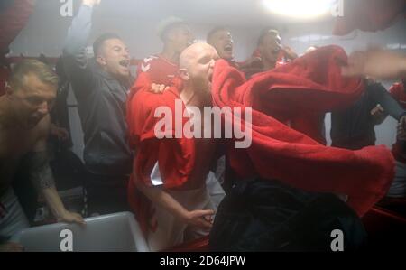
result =
[[[9,84],[12,88],[23,88],[26,75],[33,74],[43,83],[58,88],[58,75],[50,66],[38,60],[23,60],[12,70]]]

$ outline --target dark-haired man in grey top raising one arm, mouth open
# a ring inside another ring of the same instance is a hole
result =
[[[95,58],[86,56],[93,8],[99,3],[82,1],[63,50],[85,136],[89,214],[127,209],[126,182],[133,160],[125,124],[125,101],[131,86],[128,49],[115,33],[106,33],[93,44]]]

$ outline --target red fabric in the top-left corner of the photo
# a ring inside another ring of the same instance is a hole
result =
[[[0,13],[0,52],[8,48],[28,22],[34,8],[32,3],[32,0],[14,0],[9,8]]]

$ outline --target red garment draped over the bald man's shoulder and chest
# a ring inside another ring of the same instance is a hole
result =
[[[175,123],[175,100],[180,99],[180,81],[172,79],[172,87],[161,95],[150,91],[151,79],[146,73],[140,74],[127,101],[127,124],[130,144],[136,150],[134,175],[128,186],[128,200],[134,210],[143,232],[146,233],[150,221],[150,202],[136,189],[136,182],[152,186],[151,172],[159,162],[161,178],[165,189],[180,189],[187,182],[195,163],[195,144],[193,139],[158,139],[155,125],[161,118],[154,116],[158,107],[170,107],[172,123]],[[182,103],[182,112],[185,107]],[[183,118],[184,125],[188,118]],[[175,134],[173,124],[171,135]]]

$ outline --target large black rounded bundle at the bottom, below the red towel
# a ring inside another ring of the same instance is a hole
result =
[[[277,181],[239,182],[217,209],[213,251],[332,251],[331,232],[344,233],[344,250],[365,245],[361,220],[336,195],[292,189]]]

